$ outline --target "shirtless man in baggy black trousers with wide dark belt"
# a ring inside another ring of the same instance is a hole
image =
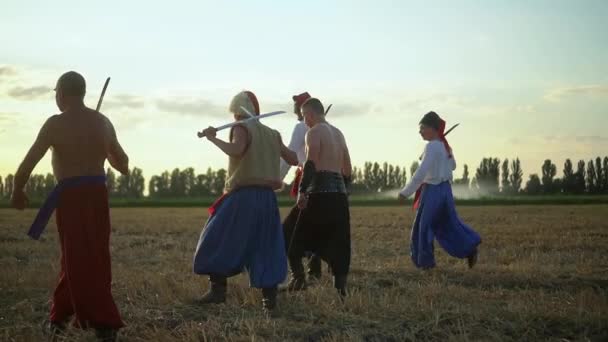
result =
[[[285,232],[291,282],[305,281],[301,259],[312,251],[330,265],[334,286],[344,296],[350,267],[350,155],[342,132],[325,120],[321,101],[308,99],[302,115],[310,129],[297,201],[301,214],[295,229]]]

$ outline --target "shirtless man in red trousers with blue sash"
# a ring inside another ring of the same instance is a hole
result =
[[[25,184],[36,164],[52,148],[57,187],[40,209],[30,232],[37,239],[57,209],[61,272],[53,294],[50,326],[60,334],[71,316],[78,328],[94,328],[103,341],[114,341],[124,326],[111,292],[110,213],[104,162],[122,174],[129,159],[108,118],[85,106],[84,78],[73,71],[57,81],[55,100],[61,114],[51,116],[15,174],[12,206],[28,203]]]

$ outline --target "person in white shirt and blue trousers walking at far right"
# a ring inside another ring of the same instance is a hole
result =
[[[399,193],[400,201],[416,193],[416,219],[412,226],[411,257],[416,267],[435,267],[433,241],[453,257],[467,259],[469,268],[477,262],[481,237],[464,224],[454,207],[452,171],[456,161],[445,138],[445,121],[435,112],[420,121],[420,135],[428,141],[422,163],[410,182]]]

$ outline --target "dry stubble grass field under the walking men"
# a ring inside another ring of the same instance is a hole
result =
[[[114,295],[123,341],[606,341],[608,206],[466,207],[483,236],[480,261],[437,248],[438,267],[409,260],[410,210],[354,208],[350,296],[322,284],[281,294],[266,319],[243,275],[227,304],[193,304],[207,287],[191,259],[204,209],[112,211]],[[285,213],[285,212],[283,212]],[[34,211],[0,210],[0,340],[40,341],[57,280],[54,223],[25,235]],[[70,340],[92,341],[73,330]]]

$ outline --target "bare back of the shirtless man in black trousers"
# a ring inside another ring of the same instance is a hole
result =
[[[344,135],[327,122],[318,123],[307,132],[306,155],[319,171],[350,176],[350,155]]]

